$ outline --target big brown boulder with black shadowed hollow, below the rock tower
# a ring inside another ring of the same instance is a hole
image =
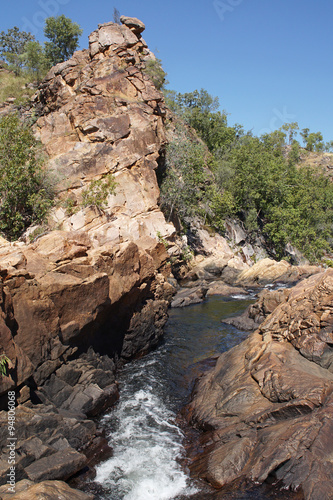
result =
[[[167,258],[164,246],[149,244],[147,250],[133,242],[92,248],[83,232],[54,231],[21,246],[24,259],[12,262],[16,267],[5,263],[8,256],[0,259],[0,339],[10,359],[0,395],[31,376],[42,385],[77,347],[94,345],[128,359],[149,349],[148,338],[156,344],[173,287],[167,268],[158,272]],[[149,321],[148,334],[143,325]]]

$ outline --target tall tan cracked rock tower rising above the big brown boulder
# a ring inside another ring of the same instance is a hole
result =
[[[76,212],[68,217],[64,209],[55,210],[57,227],[84,229],[99,244],[174,232],[157,205],[154,169],[166,143],[166,108],[162,93],[142,72],[153,57],[139,34],[106,23],[90,35],[89,50],[76,52],[47,75],[36,96],[42,114],[36,133],[50,156],[59,197],[64,203],[70,198]],[[115,194],[103,216],[92,218],[82,209],[82,193],[110,173]]]

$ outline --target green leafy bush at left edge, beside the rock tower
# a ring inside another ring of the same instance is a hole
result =
[[[0,119],[0,231],[18,238],[41,221],[52,205],[38,144],[18,115]]]

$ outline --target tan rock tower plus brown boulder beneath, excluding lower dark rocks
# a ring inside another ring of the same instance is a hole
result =
[[[52,68],[36,95],[36,135],[58,202],[53,231],[32,244],[0,247],[0,342],[12,362],[0,395],[30,376],[42,384],[105,322],[105,348],[126,359],[162,334],[171,287],[159,237],[175,232],[159,210],[155,175],[166,109],[142,72],[154,57],[141,38],[144,25],[126,23],[100,25],[89,49]],[[116,189],[103,208],[84,207],[82,193],[109,174]]]

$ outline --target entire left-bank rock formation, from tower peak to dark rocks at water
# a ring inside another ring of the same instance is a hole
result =
[[[166,108],[144,73],[154,56],[143,23],[122,21],[100,25],[89,49],[52,68],[36,93],[57,203],[46,229],[0,241],[0,354],[9,359],[0,404],[6,410],[15,391],[16,480],[66,480],[87,465],[103,445],[90,418],[116,401],[116,366],[157,344],[174,292],[161,238],[175,229],[155,175]],[[89,205],[87,193],[110,179],[113,189]],[[6,419],[0,412],[0,484]]]

